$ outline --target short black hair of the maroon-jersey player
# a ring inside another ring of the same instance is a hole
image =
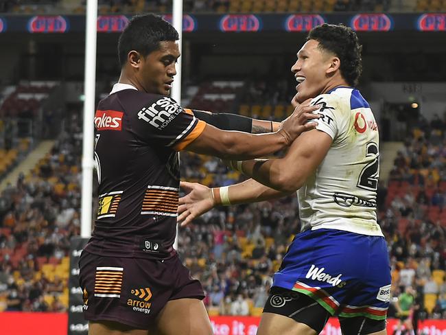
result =
[[[159,49],[161,41],[177,41],[178,32],[161,16],[154,14],[135,15],[119,36],[118,60],[121,67],[126,64],[130,51],[148,56]]]

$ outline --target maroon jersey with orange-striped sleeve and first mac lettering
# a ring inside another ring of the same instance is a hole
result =
[[[128,87],[121,85],[97,106],[99,208],[85,249],[104,256],[165,259],[175,253],[177,151],[206,123],[170,97]]]

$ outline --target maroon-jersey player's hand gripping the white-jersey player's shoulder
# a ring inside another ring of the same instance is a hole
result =
[[[279,132],[285,136],[287,143],[290,145],[298,135],[307,130],[312,130],[316,128],[317,123],[312,122],[313,119],[318,119],[319,114],[314,114],[320,108],[320,105],[311,106],[309,103],[311,99],[306,100],[302,104],[296,103],[296,108],[292,115],[287,117],[285,121],[282,122]],[[293,105],[294,106],[294,105]]]

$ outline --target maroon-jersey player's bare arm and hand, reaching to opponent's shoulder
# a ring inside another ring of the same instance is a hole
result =
[[[285,119],[277,132],[270,134],[224,131],[207,124],[200,136],[189,143],[185,150],[222,159],[252,159],[271,154],[290,146],[301,132],[315,128],[316,122],[308,121],[320,117],[312,113],[318,108],[320,106],[310,106],[308,100]]]

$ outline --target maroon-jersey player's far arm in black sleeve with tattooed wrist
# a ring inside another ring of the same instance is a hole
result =
[[[198,119],[221,130],[237,130],[250,132],[252,134],[263,134],[265,132],[277,132],[281,125],[280,122],[252,119],[233,113],[211,113],[208,111],[198,111],[196,109],[192,109],[191,111]]]

